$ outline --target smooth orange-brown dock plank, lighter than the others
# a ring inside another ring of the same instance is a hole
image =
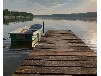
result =
[[[39,50],[39,49],[38,49]],[[96,52],[68,52],[68,51],[38,51],[37,49],[34,49],[30,55],[67,55],[67,56],[96,56]]]

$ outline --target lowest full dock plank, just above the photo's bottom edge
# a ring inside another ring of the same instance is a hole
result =
[[[20,66],[16,73],[96,74],[96,68]]]

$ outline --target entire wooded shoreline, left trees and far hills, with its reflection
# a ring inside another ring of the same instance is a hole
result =
[[[10,22],[32,21],[33,18],[52,19],[52,20],[83,20],[97,21],[97,12],[71,13],[71,14],[52,14],[52,15],[33,15],[27,12],[3,10],[3,24],[8,25]]]

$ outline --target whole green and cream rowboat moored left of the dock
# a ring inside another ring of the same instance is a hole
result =
[[[42,25],[33,24],[10,32],[10,48],[33,48],[42,35]]]

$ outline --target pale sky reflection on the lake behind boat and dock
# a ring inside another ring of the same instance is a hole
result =
[[[80,37],[87,45],[96,47],[96,36],[97,36],[97,23],[96,20],[75,20],[75,19],[64,19],[64,18],[34,18],[32,21],[9,23],[9,26],[4,24],[4,38],[9,37],[8,33],[16,30],[23,26],[29,26],[32,24],[42,24],[45,22],[45,32],[48,30],[71,30],[78,37]],[[95,48],[94,48],[95,50]]]

